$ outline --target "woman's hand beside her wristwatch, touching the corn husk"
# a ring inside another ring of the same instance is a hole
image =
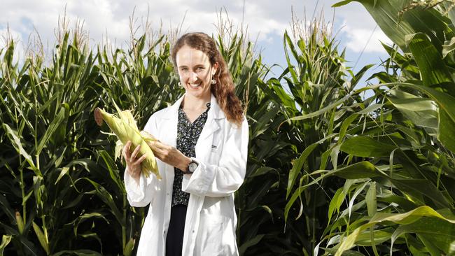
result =
[[[183,172],[188,171],[188,164],[190,164],[191,158],[183,155],[180,150],[161,141],[149,142],[148,146],[152,149],[155,157],[158,157],[162,162],[177,167]]]

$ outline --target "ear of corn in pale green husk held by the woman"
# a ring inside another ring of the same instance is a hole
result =
[[[120,111],[118,106],[114,103],[117,108],[118,118],[116,115],[107,113],[101,108],[96,108],[94,110],[94,116],[97,124],[102,125],[103,120],[113,131],[114,134],[119,138],[116,143],[116,157],[120,155],[120,151],[123,148],[123,145],[127,141],[131,141],[130,152],[133,152],[137,145],[141,145],[141,149],[137,154],[137,158],[142,155],[147,155],[146,159],[141,162],[141,171],[144,173],[144,176],[148,177],[151,173],[154,173],[158,180],[161,180],[160,172],[158,171],[158,166],[156,164],[155,155],[153,151],[147,145],[148,142],[156,141],[156,139],[148,134],[146,131],[140,131],[137,128],[136,121],[133,118],[133,115],[130,111]]]

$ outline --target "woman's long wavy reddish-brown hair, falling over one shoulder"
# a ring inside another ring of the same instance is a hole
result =
[[[176,55],[183,45],[188,45],[190,48],[204,52],[209,57],[212,65],[218,62],[218,69],[216,69],[216,73],[214,74],[216,84],[211,85],[211,93],[214,94],[218,105],[225,113],[228,121],[240,127],[244,119],[241,101],[235,95],[234,81],[223,56],[221,56],[220,51],[216,48],[214,39],[204,33],[188,33],[181,36],[176,41],[171,52],[174,66],[177,66]]]

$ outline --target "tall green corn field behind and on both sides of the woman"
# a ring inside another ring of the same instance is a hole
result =
[[[377,84],[356,86],[372,65],[354,73],[319,22],[283,34],[276,75],[245,34],[214,36],[250,125],[241,255],[455,255],[454,3],[357,2],[393,41]],[[141,129],[176,101],[173,36],[111,50],[76,32],[48,60],[0,50],[0,255],[135,255],[147,208],[93,113],[115,102]]]

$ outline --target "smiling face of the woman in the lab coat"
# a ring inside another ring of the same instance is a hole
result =
[[[198,99],[210,99],[210,80],[218,63],[211,65],[204,52],[183,45],[176,54],[176,64],[186,93]]]

